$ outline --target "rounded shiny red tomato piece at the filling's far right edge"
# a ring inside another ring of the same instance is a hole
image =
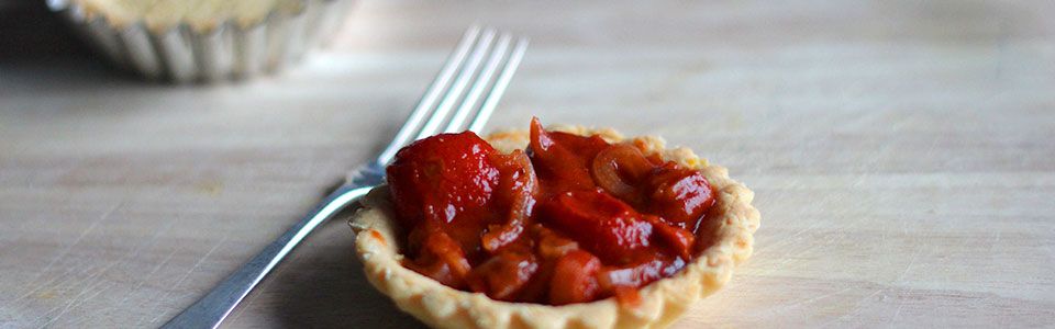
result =
[[[678,227],[696,230],[696,226],[714,204],[714,193],[697,170],[667,162],[647,179],[649,209]]]

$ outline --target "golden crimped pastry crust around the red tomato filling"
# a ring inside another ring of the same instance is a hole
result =
[[[670,325],[686,308],[724,285],[733,266],[747,260],[758,229],[759,214],[751,205],[754,192],[729,178],[725,168],[711,166],[688,148],[666,149],[658,137],[624,139],[612,129],[589,129],[581,126],[557,126],[553,131],[578,135],[600,135],[610,143],[629,141],[646,155],[660,154],[664,159],[700,170],[717,192],[711,219],[701,227],[701,236],[713,238],[710,247],[677,274],[658,280],[640,290],[641,304],[621,306],[614,298],[551,306],[509,303],[488,298],[481,293],[463,292],[443,285],[400,264],[397,229],[388,186],[381,185],[367,195],[364,207],[349,220],[356,232],[356,256],[364,264],[366,277],[396,305],[435,328],[663,328]],[[525,131],[496,133],[486,139],[503,152],[528,145]]]

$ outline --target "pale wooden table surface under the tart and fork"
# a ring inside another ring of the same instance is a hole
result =
[[[492,127],[658,134],[756,191],[754,257],[676,328],[1055,325],[1051,1],[365,1],[214,87],[7,7],[0,328],[159,326],[377,151],[473,22],[533,38]],[[352,242],[329,223],[225,326],[420,326]]]

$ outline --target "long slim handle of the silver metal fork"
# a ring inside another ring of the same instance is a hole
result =
[[[208,295],[168,320],[162,328],[216,328],[245,295],[297,247],[319,224],[344,209],[348,204],[366,195],[374,186],[353,184],[341,186],[322,203],[289,228],[277,240],[267,245],[260,253],[224,279]]]

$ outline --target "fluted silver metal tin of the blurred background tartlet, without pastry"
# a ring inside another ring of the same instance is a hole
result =
[[[299,12],[274,10],[249,26],[229,20],[209,31],[187,23],[164,31],[143,22],[114,26],[86,14],[76,1],[47,0],[47,5],[114,65],[180,83],[243,79],[293,64],[337,31],[353,2],[304,0]]]

